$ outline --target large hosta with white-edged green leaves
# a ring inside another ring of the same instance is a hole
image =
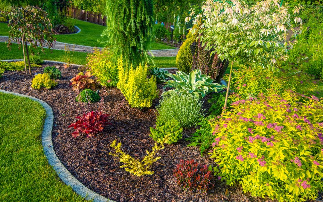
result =
[[[173,80],[166,81],[164,88],[174,88],[174,90],[168,90],[167,93],[175,91],[179,92],[180,95],[193,94],[196,99],[199,99],[211,92],[218,92],[218,90],[225,88],[224,85],[213,83],[214,80],[210,76],[201,74],[199,69],[192,70],[188,75],[181,71],[176,71],[176,74],[168,73],[166,75]]]

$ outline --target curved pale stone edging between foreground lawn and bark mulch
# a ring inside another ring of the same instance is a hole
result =
[[[90,190],[88,187],[84,186],[82,183],[80,183],[66,168],[65,166],[60,162],[57,155],[55,154],[53,143],[52,143],[52,128],[53,128],[53,122],[54,122],[54,115],[52,108],[44,101],[39,100],[35,97],[31,97],[28,95],[23,95],[19,93],[14,93],[6,90],[1,90],[0,92],[3,93],[10,93],[13,95],[21,96],[29,98],[33,101],[37,101],[41,104],[41,106],[46,111],[46,119],[44,123],[44,129],[42,133],[42,145],[44,149],[44,154],[46,155],[48,159],[49,165],[53,167],[59,178],[68,186],[71,186],[72,189],[81,197],[85,198],[86,200],[93,200],[94,202],[115,202],[112,200],[109,200],[106,197],[103,197],[99,195],[98,193]]]

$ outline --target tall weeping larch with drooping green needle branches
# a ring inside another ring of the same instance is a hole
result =
[[[102,33],[114,61],[122,55],[124,64],[149,61],[148,44],[152,38],[152,0],[107,0],[107,28]]]

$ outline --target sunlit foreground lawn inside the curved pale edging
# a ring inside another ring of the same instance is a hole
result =
[[[48,165],[45,116],[38,102],[0,93],[0,201],[85,201]]]

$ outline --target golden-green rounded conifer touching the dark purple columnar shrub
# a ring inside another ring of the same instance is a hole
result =
[[[192,51],[191,45],[195,40],[194,35],[189,32],[186,40],[182,44],[181,48],[178,50],[176,56],[176,66],[179,71],[188,74],[192,70]]]

